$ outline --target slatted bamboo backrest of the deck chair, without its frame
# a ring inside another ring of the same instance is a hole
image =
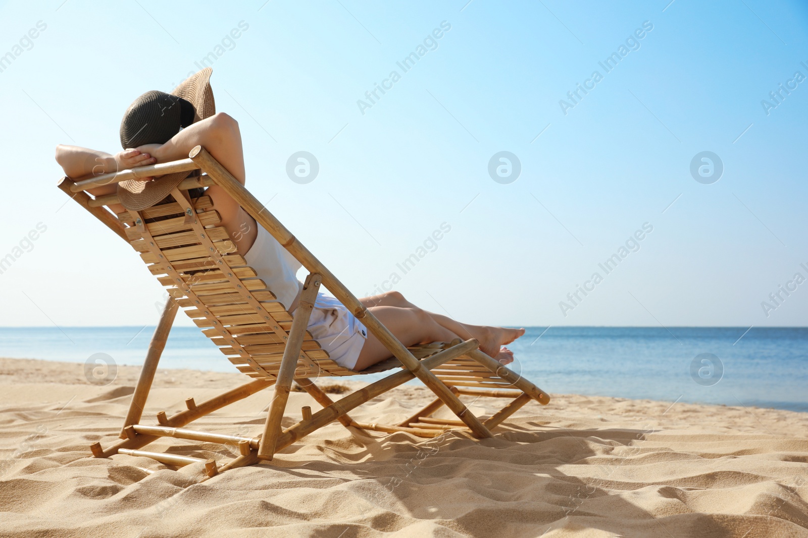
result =
[[[118,215],[129,243],[230,362],[250,377],[274,380],[292,315],[234,253],[211,198],[190,200],[179,190],[173,196],[174,202]],[[295,377],[354,373],[331,361],[306,332]]]

